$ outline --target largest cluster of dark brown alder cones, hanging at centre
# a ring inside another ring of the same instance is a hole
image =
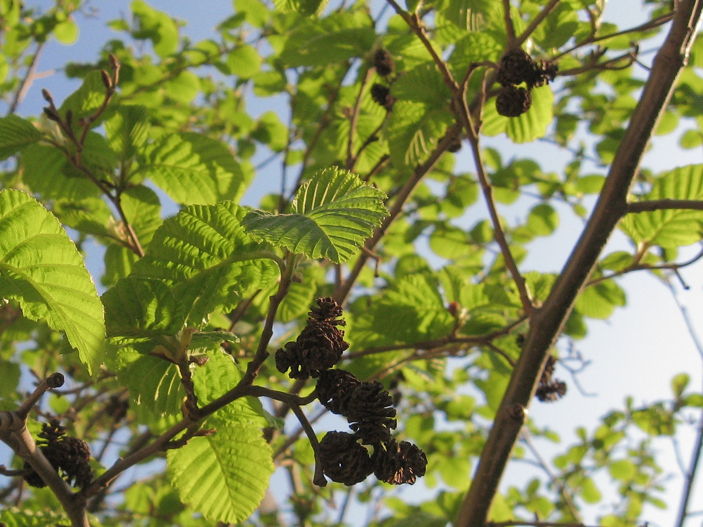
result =
[[[299,337],[276,352],[276,367],[281,373],[290,370],[292,379],[318,379],[318,400],[349,422],[352,434],[328,432],[318,446],[325,476],[345,485],[359,483],[372,473],[387,483],[415,483],[425,475],[425,453],[408,441],[398,443],[392,438],[396,410],[380,382],[362,382],[351,372],[333,368],[349,347],[344,332],[337,328],[345,325],[342,308],[331,298],[319,298],[316,304]]]

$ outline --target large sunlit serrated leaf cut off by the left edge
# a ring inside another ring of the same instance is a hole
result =
[[[103,305],[53,214],[19,190],[0,192],[0,290],[22,313],[63,331],[92,375],[102,359]]]

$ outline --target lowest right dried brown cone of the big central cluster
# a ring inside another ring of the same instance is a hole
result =
[[[398,445],[394,439],[389,441],[385,448],[374,450],[371,461],[374,465],[373,473],[380,481],[392,485],[408,483],[412,485],[425,475],[427,469],[427,456],[413,443],[401,441]]]

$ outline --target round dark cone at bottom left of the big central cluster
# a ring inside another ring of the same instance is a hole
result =
[[[373,472],[368,450],[347,432],[328,432],[318,445],[322,470],[332,481],[355,485]]]

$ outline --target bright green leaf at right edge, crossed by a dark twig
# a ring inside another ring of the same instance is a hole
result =
[[[664,172],[654,181],[647,200],[703,200],[703,164]],[[699,242],[703,236],[703,211],[662,209],[628,214],[621,228],[636,243],[647,242],[660,247],[681,247]]]

